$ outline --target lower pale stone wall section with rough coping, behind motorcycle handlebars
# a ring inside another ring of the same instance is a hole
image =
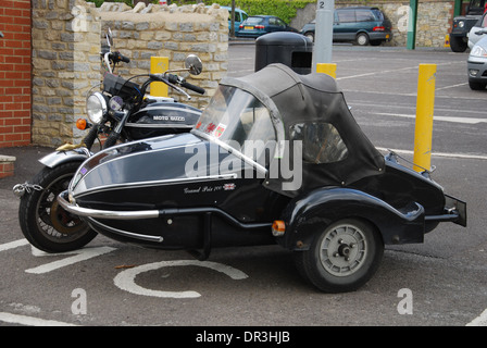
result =
[[[130,58],[117,73],[134,76],[150,72],[151,57],[167,57],[170,70],[184,67],[188,54],[197,54],[203,72],[191,76],[178,73],[188,83],[203,87],[200,96],[188,91],[191,100],[168,90],[170,97],[196,108],[204,108],[214,95],[220,79],[228,70],[228,11],[220,5],[205,8],[203,3],[177,7],[137,3],[127,11],[125,4],[105,2],[100,8],[102,32],[109,27],[114,37],[114,49]]]

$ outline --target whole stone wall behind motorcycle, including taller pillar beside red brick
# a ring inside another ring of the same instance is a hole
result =
[[[55,147],[85,136],[75,122],[86,117],[86,96],[100,83],[100,44],[108,27],[114,49],[130,58],[116,70],[124,77],[149,73],[152,55],[167,57],[173,70],[183,67],[187,54],[198,54],[203,73],[188,82],[207,95],[191,92],[190,103],[203,108],[227,71],[227,18],[220,7],[140,2],[135,9],[123,3],[96,9],[84,0],[33,0],[33,144]]]

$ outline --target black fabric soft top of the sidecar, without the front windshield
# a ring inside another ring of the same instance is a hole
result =
[[[221,85],[244,89],[264,103],[271,110],[278,140],[302,140],[300,187],[283,189],[283,183],[296,178],[279,175],[265,181],[270,189],[297,196],[316,187],[347,186],[384,173],[384,156],[362,133],[330,76],[320,73],[299,75],[286,65],[271,64],[245,77],[224,78]],[[334,139],[324,139],[330,135]],[[292,154],[294,141],[286,144]],[[316,148],[316,159],[307,159],[313,148]],[[321,160],[323,151],[329,152],[332,160]]]

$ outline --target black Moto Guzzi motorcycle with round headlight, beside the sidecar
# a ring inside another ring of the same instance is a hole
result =
[[[176,102],[168,97],[146,96],[152,82],[162,82],[191,97],[182,88],[204,94],[204,89],[187,83],[175,72],[188,71],[198,75],[202,63],[197,55],[188,55],[185,69],[164,74],[137,75],[128,79],[115,75],[117,63],[129,63],[120,52],[112,52],[111,32],[107,34],[108,50],[101,52],[107,70],[102,91],[90,92],[87,97],[88,120],[79,119],[76,126],[89,129],[79,145],[63,145],[54,152],[39,160],[45,166],[28,183],[13,187],[20,197],[18,221],[23,235],[36,248],[47,252],[76,250],[92,240],[97,233],[82,219],[59,206],[55,197],[64,190],[74,173],[87,158],[93,154],[98,139],[103,149],[116,142],[132,141],[165,134],[189,132],[201,114],[201,110]],[[136,77],[148,77],[139,86]],[[101,138],[105,138],[101,145]]]

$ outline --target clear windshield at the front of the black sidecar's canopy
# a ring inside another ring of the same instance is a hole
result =
[[[276,140],[269,109],[251,94],[222,85],[192,132],[263,165],[265,149],[272,151]]]

